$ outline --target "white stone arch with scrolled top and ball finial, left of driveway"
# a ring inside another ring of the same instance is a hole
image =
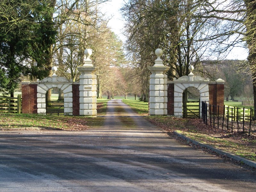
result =
[[[57,68],[56,68],[57,70]],[[52,68],[52,77],[46,77],[41,81],[37,81],[37,113],[46,114],[46,98],[45,94],[49,89],[59,88],[64,93],[64,115],[73,115],[73,95],[72,95],[72,81],[65,77],[58,77]]]

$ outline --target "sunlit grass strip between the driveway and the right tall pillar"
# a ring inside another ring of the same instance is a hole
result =
[[[140,100],[122,100],[125,104],[129,105],[134,111],[139,114],[148,115],[148,103],[140,101]]]

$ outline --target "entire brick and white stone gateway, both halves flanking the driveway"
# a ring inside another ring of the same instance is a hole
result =
[[[157,59],[153,67],[149,86],[149,115],[174,115],[182,117],[182,93],[188,87],[196,87],[200,92],[200,100],[212,105],[224,105],[224,81],[218,79],[210,82],[193,74],[193,66],[189,67],[190,74],[173,81],[167,81],[166,71],[169,67],[163,65],[160,56],[161,49],[155,51]],[[64,93],[65,115],[97,115],[97,80],[90,55],[92,51],[84,51],[84,65],[79,67],[80,82],[72,82],[64,77],[58,77],[52,68],[52,77],[42,81],[22,82],[22,113],[46,114],[45,94],[51,88],[59,88]],[[201,108],[200,108],[201,109]],[[220,111],[221,112],[221,111]],[[201,115],[201,113],[200,113]]]

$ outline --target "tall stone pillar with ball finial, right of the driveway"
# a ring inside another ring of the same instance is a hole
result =
[[[155,51],[157,59],[153,67],[148,67],[151,71],[149,86],[149,115],[167,115],[167,75],[166,71],[170,67],[163,65],[160,56],[161,49]]]

